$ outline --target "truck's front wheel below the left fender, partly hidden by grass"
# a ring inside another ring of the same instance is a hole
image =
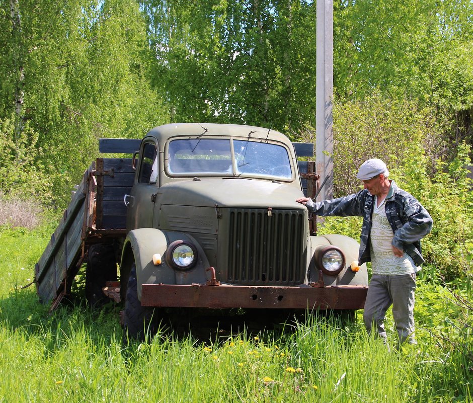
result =
[[[141,306],[138,299],[138,282],[136,280],[136,266],[133,263],[126,289],[125,309],[123,310],[123,344],[130,340],[144,341],[147,336],[154,336],[157,332],[157,309]]]

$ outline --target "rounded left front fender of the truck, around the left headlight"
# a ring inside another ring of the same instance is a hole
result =
[[[167,262],[166,251],[169,245],[182,239],[193,244],[197,250],[197,263],[190,270],[176,270]],[[161,263],[153,263],[153,255],[161,255]],[[128,232],[123,246],[120,268],[123,266],[125,279],[128,280],[129,267],[136,266],[138,282],[138,299],[141,300],[143,284],[192,284],[205,283],[210,274],[207,257],[197,241],[189,234],[176,231],[166,231],[156,228],[139,228]],[[122,288],[123,284],[122,284]],[[126,287],[125,287],[126,288]],[[124,297],[124,293],[121,293]]]

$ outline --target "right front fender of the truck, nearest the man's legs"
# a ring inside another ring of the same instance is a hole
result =
[[[358,251],[360,249],[360,245],[355,239],[340,234],[311,236],[310,238],[312,261],[313,254],[320,246],[336,246],[340,248],[345,255],[345,268],[337,276],[324,274],[324,282],[326,285],[368,285],[368,268],[365,263],[360,266],[359,271],[353,272],[351,270],[351,263],[358,260]],[[316,268],[313,266],[313,262],[311,262],[310,281],[317,282],[318,273],[314,273],[313,271],[317,272]]]

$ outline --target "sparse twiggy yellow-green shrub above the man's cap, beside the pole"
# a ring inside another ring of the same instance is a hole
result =
[[[423,180],[437,169],[436,160],[446,157],[448,121],[431,108],[372,94],[363,101],[335,103],[333,111],[336,195],[360,189],[356,173],[368,158],[381,158],[391,174],[399,172],[400,177],[404,165],[414,164],[423,174],[416,180]],[[418,153],[425,157],[416,159]]]

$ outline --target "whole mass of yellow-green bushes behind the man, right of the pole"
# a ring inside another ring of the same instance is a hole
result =
[[[336,105],[334,120],[336,196],[361,189],[356,173],[364,160],[383,159],[389,177],[416,197],[434,220],[432,232],[422,241],[427,263],[447,280],[472,272],[470,147],[447,143],[453,122],[414,102],[378,96]],[[448,160],[449,155],[454,157]],[[360,229],[359,217],[327,217],[319,226],[320,233],[344,233],[354,238],[359,237]]]

